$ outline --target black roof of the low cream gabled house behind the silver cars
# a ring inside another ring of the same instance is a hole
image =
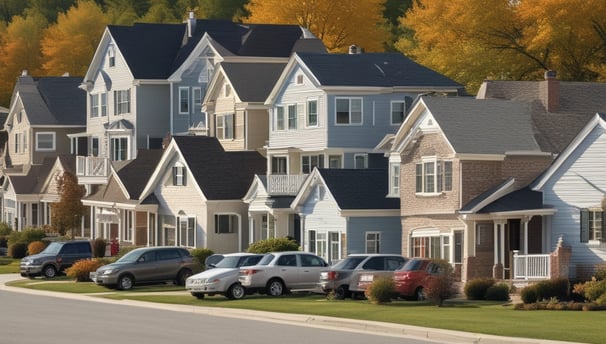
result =
[[[173,140],[209,200],[241,199],[255,174],[267,169],[258,152],[225,152],[214,137],[175,136]]]

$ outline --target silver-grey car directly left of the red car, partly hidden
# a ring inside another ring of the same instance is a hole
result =
[[[353,299],[364,298],[366,288],[381,277],[393,277],[394,271],[406,264],[407,259],[386,258],[374,261],[372,266],[364,270],[356,270],[349,282],[349,291]]]

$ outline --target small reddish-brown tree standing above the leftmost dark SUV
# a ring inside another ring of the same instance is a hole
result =
[[[71,230],[72,239],[76,228],[80,227],[82,216],[86,207],[82,204],[82,197],[86,191],[84,186],[78,185],[78,179],[65,171],[57,180],[59,202],[51,204],[51,224],[60,234],[65,235]]]

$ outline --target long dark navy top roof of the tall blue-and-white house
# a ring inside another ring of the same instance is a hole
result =
[[[447,87],[463,90],[461,84],[400,53],[297,55],[324,86]]]

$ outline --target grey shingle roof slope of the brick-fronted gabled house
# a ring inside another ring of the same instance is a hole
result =
[[[540,151],[529,104],[472,97],[422,99],[457,153]]]

